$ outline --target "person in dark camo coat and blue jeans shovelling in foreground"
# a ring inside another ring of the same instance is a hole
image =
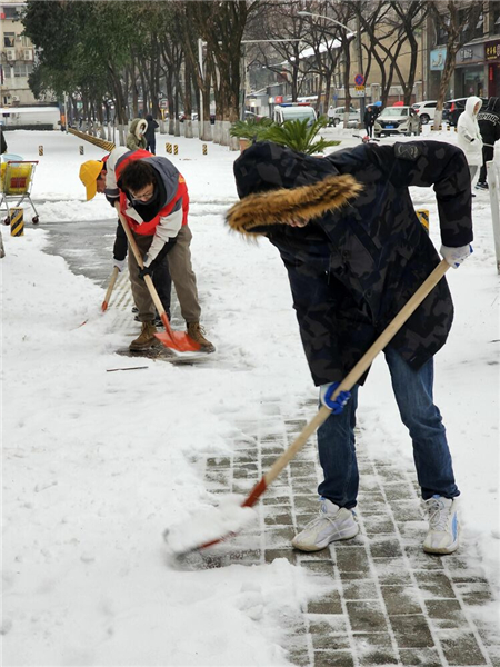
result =
[[[337,399],[332,394],[440,261],[409,187],[434,188],[441,253],[459,266],[472,251],[469,169],[460,149],[437,141],[367,143],[326,158],[260,142],[238,158],[234,176],[242,201],[228,222],[242,233],[264,235],[278,248],[313,381],[332,410],[318,431],[324,474],[320,518],[292,542],[313,551],[358,532],[351,511],[358,492],[358,386]],[[459,490],[432,402],[433,355],[452,318],[442,279],[384,349],[429,509],[424,549],[439,554],[458,547]]]

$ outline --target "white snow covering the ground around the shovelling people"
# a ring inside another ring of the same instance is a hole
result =
[[[340,148],[358,141],[351,130],[326,136]],[[423,138],[456,141],[428,127]],[[257,419],[269,400],[293,417],[316,394],[277,251],[223,223],[237,199],[237,153],[209,143],[202,156],[197,139],[158,137],[159,155],[164,141],[179,145],[169,158],[190,189],[193,266],[218,362],[146,360],[144,370],[107,374],[130,338],[100,316],[99,286],[43,252],[43,220],[114,217],[102,196],[84,201],[78,177],[81,162],[103,151],[86,143],[82,157],[82,141],[62,132],[14,131],[7,140],[10,153],[39,160],[32,197],[41,222],[22,238],[2,230],[4,664],[286,665],[279,616],[313,597],[318,579],[281,559],[179,571],[161,537],[211,504],[192,455],[230,452],[238,421]],[[412,195],[430,210],[439,248],[433,192]],[[436,402],[462,491],[463,551],[477,544],[498,584],[499,277],[487,192],[477,192],[473,219],[474,253],[448,272],[456,321],[436,359]],[[372,454],[411,461],[381,358],[359,416]]]

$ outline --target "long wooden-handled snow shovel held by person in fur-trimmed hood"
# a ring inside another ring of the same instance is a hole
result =
[[[352,370],[344,377],[344,379],[337,387],[332,398],[336,398],[341,391],[350,391],[356,382],[360,379],[360,377],[364,374],[366,370],[371,366],[373,359],[377,355],[383,350],[383,348],[390,342],[390,340],[396,336],[399,329],[403,326],[403,323],[409,319],[409,317],[414,312],[414,310],[420,306],[423,299],[429,295],[429,292],[436,287],[436,285],[441,280],[444,276],[446,271],[450,268],[450,265],[443,259],[430,273],[430,276],[422,282],[419,289],[414,292],[414,295],[408,300],[408,302],[401,308],[394,319],[386,327],[382,334],[377,338],[373,345],[368,349],[367,352],[361,357],[358,364],[352,368]],[[302,449],[306,445],[309,437],[330,417],[331,411],[321,406],[318,414],[306,425],[302,432],[293,440],[290,447],[284,451],[272,465],[272,467],[263,475],[260,481],[253,487],[250,491],[249,496],[241,504],[241,508],[253,507],[257,500],[262,496],[266,489],[270,486],[272,481],[282,472],[282,470],[288,466],[288,464],[292,460],[292,458]],[[241,520],[247,519],[247,515],[243,517],[241,515]],[[241,529],[241,528],[239,528]],[[189,548],[177,551],[178,556],[186,555],[190,551],[201,550],[207,547],[211,547],[219,542],[226,541],[227,539],[234,537],[237,531],[231,530],[227,531],[224,536],[217,537],[211,539],[210,541],[204,541],[198,546],[191,546]],[[169,541],[169,534],[166,534],[166,541]],[[173,549],[176,550],[176,549]]]

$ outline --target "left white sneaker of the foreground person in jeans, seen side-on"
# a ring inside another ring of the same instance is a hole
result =
[[[312,519],[302,532],[292,539],[292,546],[301,551],[320,551],[330,542],[339,539],[350,539],[358,535],[359,526],[353,512],[344,507],[334,505],[327,498],[321,498],[320,514]]]

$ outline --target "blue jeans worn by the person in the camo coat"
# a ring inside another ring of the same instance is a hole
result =
[[[434,494],[446,498],[459,496],[444,426],[432,400],[433,359],[413,370],[391,347],[384,349],[384,355],[401,420],[413,442],[413,460],[422,498],[427,500]],[[331,415],[318,429],[319,458],[324,475],[318,491],[348,509],[356,507],[359,487],[354,442],[358,388],[357,385],[352,389],[343,411]],[[388,451],[388,457],[396,456],[396,451]]]

